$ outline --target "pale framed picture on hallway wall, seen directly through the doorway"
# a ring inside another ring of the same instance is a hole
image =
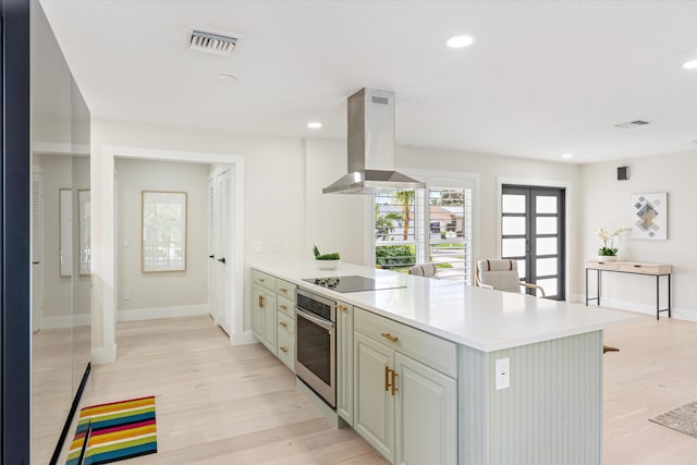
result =
[[[142,271],[186,271],[185,192],[143,191]]]

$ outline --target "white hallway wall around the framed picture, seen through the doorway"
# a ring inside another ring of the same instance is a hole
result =
[[[118,289],[121,318],[170,315],[172,307],[207,307],[208,164],[117,159],[118,171]],[[142,192],[187,194],[186,270],[142,271]],[[130,246],[124,246],[129,240]],[[129,290],[131,298],[123,298]],[[136,311],[137,310],[137,311]],[[206,308],[204,308],[206,310]]]

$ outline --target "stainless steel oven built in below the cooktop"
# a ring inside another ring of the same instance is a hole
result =
[[[295,374],[337,406],[337,302],[299,289],[295,307]]]

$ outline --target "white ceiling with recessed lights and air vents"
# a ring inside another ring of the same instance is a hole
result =
[[[378,87],[400,145],[576,163],[697,148],[693,1],[41,3],[96,118],[345,138],[345,98]],[[243,38],[194,52],[187,26]],[[476,41],[445,48],[457,34]],[[651,124],[614,127],[634,120]]]

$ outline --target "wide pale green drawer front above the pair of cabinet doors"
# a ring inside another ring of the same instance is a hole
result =
[[[354,331],[391,346],[451,378],[457,378],[457,345],[354,307]]]

